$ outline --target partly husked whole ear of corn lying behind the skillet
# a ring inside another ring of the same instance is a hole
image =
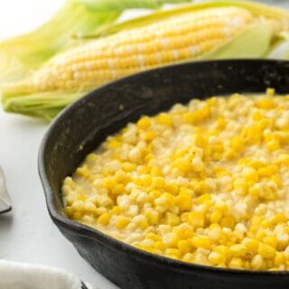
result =
[[[3,104],[7,111],[51,118],[81,94],[140,70],[194,59],[264,57],[288,26],[283,10],[243,1],[186,5],[102,26],[96,39],[61,52],[31,78],[5,85]],[[57,107],[52,99],[62,94],[65,101]]]

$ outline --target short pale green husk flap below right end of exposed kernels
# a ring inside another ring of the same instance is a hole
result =
[[[270,50],[272,23],[260,21],[248,27],[233,40],[203,55],[201,60],[234,58],[262,58]]]

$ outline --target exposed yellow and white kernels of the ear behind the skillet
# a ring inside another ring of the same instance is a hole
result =
[[[172,16],[81,45],[51,59],[27,90],[91,89],[136,71],[195,59],[254,21],[242,8]]]

